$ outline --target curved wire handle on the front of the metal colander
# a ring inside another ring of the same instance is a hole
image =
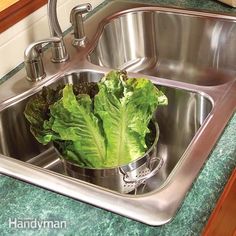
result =
[[[124,170],[121,169],[121,172],[124,175],[124,177],[123,177],[124,182],[126,182],[126,183],[144,182],[145,180],[147,180],[147,179],[151,178],[152,176],[154,176],[155,174],[157,174],[157,172],[163,166],[164,161],[161,157],[154,157],[153,159],[159,160],[158,165],[153,170],[151,170],[150,173],[148,173],[147,175],[141,176],[141,177],[130,178],[130,176],[127,174],[127,172],[125,172]]]

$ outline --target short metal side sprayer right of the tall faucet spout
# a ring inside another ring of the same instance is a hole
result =
[[[87,37],[84,33],[84,24],[82,15],[91,11],[92,6],[90,3],[80,4],[74,7],[70,13],[70,22],[74,30],[73,46],[83,47],[86,44]]]

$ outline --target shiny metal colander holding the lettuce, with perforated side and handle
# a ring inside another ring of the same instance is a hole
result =
[[[159,138],[159,127],[155,122],[151,128],[155,139],[148,151],[137,160],[113,168],[87,168],[81,167],[60,155],[64,164],[65,173],[68,176],[104,187],[119,193],[130,193],[152,176],[154,176],[163,165],[163,160],[157,157],[157,141]]]

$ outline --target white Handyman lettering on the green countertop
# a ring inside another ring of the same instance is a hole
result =
[[[40,219],[17,219],[9,218],[9,228],[16,229],[63,229],[67,227],[66,221],[40,220]]]

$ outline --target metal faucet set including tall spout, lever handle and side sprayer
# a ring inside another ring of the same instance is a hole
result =
[[[30,81],[39,81],[46,76],[42,61],[42,46],[46,43],[52,44],[52,62],[64,62],[69,56],[63,40],[63,34],[57,18],[57,0],[48,0],[48,19],[51,38],[39,40],[31,43],[25,50],[24,63],[27,79]],[[74,7],[71,11],[70,19],[74,27],[75,38],[74,46],[84,46],[86,36],[84,34],[82,14],[90,11],[92,6],[82,4]]]

